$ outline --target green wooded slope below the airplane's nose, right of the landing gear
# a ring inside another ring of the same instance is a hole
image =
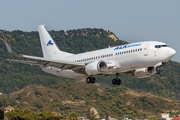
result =
[[[170,99],[180,100],[180,64],[169,61],[161,67],[160,75],[153,75],[148,78],[137,79],[132,75],[120,76],[122,85],[137,90],[139,92],[150,92],[155,95],[163,96]],[[111,84],[114,77],[100,77],[98,82]]]

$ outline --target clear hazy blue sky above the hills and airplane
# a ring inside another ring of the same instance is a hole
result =
[[[180,62],[180,0],[3,0],[0,29],[37,31],[103,28],[122,40],[161,41]]]

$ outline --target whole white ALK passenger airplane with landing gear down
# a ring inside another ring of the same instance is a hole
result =
[[[120,85],[120,73],[132,73],[137,78],[160,74],[159,67],[166,64],[176,51],[158,41],[137,42],[80,54],[61,51],[44,25],[38,26],[43,57],[17,54],[5,41],[11,55],[33,59],[8,61],[39,65],[42,70],[68,78],[86,78],[87,83],[95,83],[96,76],[116,75],[113,85]]]

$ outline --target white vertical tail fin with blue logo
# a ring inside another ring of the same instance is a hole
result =
[[[45,29],[44,25],[39,25],[38,30],[44,58],[63,58],[73,55],[71,53],[59,50],[54,40]]]

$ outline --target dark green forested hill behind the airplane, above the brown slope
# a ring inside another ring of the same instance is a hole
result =
[[[52,30],[50,34],[61,50],[72,53],[107,48],[108,45],[116,46],[128,43],[122,40],[114,40],[114,38],[109,37],[109,35],[114,35],[114,33],[107,33],[103,29],[96,28],[69,30],[66,32],[63,30]],[[30,84],[41,84],[48,87],[68,80],[68,78],[44,73],[37,66],[7,62],[6,59],[16,57],[8,54],[2,40],[7,40],[17,53],[42,56],[38,32],[0,30],[0,92],[10,93]],[[180,64],[169,61],[161,70],[162,74],[160,76],[153,75],[143,79],[137,79],[131,75],[122,75],[120,76],[122,85],[138,92],[150,92],[158,96],[180,100]],[[114,76],[97,77],[97,82],[107,83],[107,85],[111,86],[112,78]],[[74,81],[75,79],[70,80]]]

